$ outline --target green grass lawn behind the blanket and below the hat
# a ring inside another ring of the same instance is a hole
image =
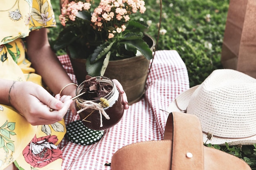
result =
[[[146,13],[136,15],[151,21],[148,34],[157,38],[160,16],[160,1],[146,0]],[[52,1],[57,27],[49,30],[49,42],[54,43],[61,24],[58,1]],[[190,86],[201,84],[220,62],[222,40],[225,31],[229,0],[162,0],[162,22],[157,50],[176,50],[185,62]],[[63,51],[56,51],[57,55]],[[256,169],[256,146],[208,145],[246,161]]]

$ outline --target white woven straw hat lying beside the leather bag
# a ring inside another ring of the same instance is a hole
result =
[[[206,144],[256,143],[256,79],[239,71],[213,71],[202,84],[178,95],[167,111],[198,116]]]

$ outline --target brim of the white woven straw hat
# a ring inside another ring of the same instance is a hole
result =
[[[189,106],[189,102],[191,99],[191,96],[195,92],[195,90],[199,87],[200,85],[193,86],[189,88],[188,90],[180,93],[168,106],[167,112],[182,112],[182,113],[189,113],[189,110],[186,110],[187,107]],[[206,113],[207,114],[207,113]],[[202,127],[202,130],[204,127]],[[217,144],[217,145],[225,145],[227,143],[229,146],[235,146],[235,145],[253,145],[256,144],[256,135],[252,137],[246,137],[246,138],[240,138],[240,139],[229,139],[229,138],[220,138],[220,137],[213,137],[211,140],[207,138],[207,132],[202,132],[203,135],[203,142],[205,144]]]

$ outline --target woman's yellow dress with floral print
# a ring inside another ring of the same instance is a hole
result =
[[[22,38],[56,26],[50,0],[1,0],[0,23],[0,78],[42,85],[25,58]],[[57,145],[65,132],[64,121],[32,126],[15,108],[0,104],[0,170],[13,162],[19,170],[61,170]]]

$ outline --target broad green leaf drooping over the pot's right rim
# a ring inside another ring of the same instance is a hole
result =
[[[123,42],[120,42],[120,44]],[[128,40],[124,44],[129,44],[130,46],[134,46],[136,49],[138,49],[142,55],[147,60],[150,60],[153,58],[153,53],[151,49],[149,48],[148,44],[144,42],[144,40]]]

